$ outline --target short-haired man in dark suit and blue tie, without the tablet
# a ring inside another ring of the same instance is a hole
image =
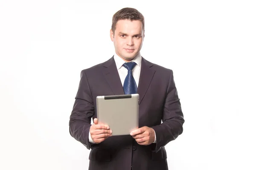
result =
[[[144,31],[139,11],[117,11],[110,31],[116,54],[81,71],[69,125],[71,136],[91,149],[89,170],[168,170],[164,146],[183,132],[183,113],[172,70],[140,55]],[[96,119],[96,96],[134,93],[140,95],[139,128],[111,136]]]

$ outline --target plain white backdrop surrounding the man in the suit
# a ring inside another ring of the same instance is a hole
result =
[[[170,170],[255,170],[253,0],[0,1],[0,169],[86,170],[69,134],[80,71],[112,57],[113,14],[145,17],[141,54],[174,71],[184,131]]]

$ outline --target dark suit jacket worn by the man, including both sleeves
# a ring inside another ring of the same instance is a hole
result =
[[[142,57],[139,127],[152,127],[157,143],[139,145],[130,135],[111,136],[91,144],[91,118],[97,117],[96,96],[124,94],[116,63],[109,59],[81,71],[76,100],[70,116],[70,134],[91,149],[89,170],[168,170],[164,146],[183,132],[183,113],[173,72]],[[163,121],[163,123],[161,123]]]

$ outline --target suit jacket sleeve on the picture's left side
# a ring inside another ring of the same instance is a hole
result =
[[[70,135],[90,150],[89,131],[91,118],[94,115],[93,98],[85,70],[81,71],[78,92],[76,94],[73,110],[70,115]]]

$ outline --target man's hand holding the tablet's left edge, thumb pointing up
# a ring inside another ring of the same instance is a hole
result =
[[[109,136],[112,136],[112,130],[108,125],[98,124],[98,119],[93,119],[93,125],[90,127],[90,135],[96,144],[103,142]]]

